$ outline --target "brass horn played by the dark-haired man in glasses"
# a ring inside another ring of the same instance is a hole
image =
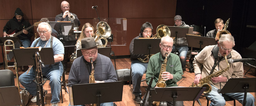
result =
[[[151,38],[161,39],[164,36],[171,36],[171,31],[168,28],[168,26],[166,26],[166,25],[159,25],[156,28],[156,34],[154,36],[152,36]],[[143,62],[143,63],[147,63],[149,61],[149,57],[151,57],[152,55],[154,55],[154,54],[145,55],[144,58],[138,58],[138,60]]]

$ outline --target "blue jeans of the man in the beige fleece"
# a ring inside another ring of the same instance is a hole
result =
[[[226,101],[224,100],[224,97],[222,94],[219,94],[217,92],[217,88],[212,86],[212,91],[209,94],[204,94],[210,101],[210,106],[224,106],[226,104]],[[236,99],[239,103],[243,104],[244,101],[244,93],[224,93],[225,95]],[[252,94],[247,93],[246,96],[246,105],[245,106],[254,106],[254,97]]]

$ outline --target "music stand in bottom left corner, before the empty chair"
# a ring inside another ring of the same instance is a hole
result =
[[[16,86],[0,87],[0,105],[22,105],[18,88]]]

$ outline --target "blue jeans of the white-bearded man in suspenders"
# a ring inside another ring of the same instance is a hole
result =
[[[27,91],[35,96],[37,94],[37,84],[34,82],[35,80],[35,71],[31,68],[31,70],[27,73],[23,73],[19,77],[20,83],[27,89]],[[61,91],[61,77],[63,74],[63,66],[62,63],[56,65],[49,65],[48,67],[42,68],[42,75],[46,76],[50,80],[52,100],[51,103],[57,103],[60,101],[60,91]]]

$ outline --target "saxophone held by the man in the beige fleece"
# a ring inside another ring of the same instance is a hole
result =
[[[225,55],[225,60],[226,60],[226,63],[227,63],[227,65],[228,65],[227,68],[224,68],[224,69],[222,69],[222,70],[219,70],[219,71],[217,71],[217,72],[215,72],[215,73],[213,73],[213,74],[211,74],[211,75],[208,75],[208,76],[206,76],[206,77],[200,79],[198,85],[194,84],[194,82],[193,82],[192,85],[190,85],[189,87],[206,87],[206,89],[204,90],[203,93],[204,93],[204,94],[210,93],[210,92],[212,91],[212,87],[211,87],[211,85],[208,84],[208,83],[211,82],[211,78],[213,78],[213,77],[218,77],[219,75],[223,74],[225,71],[229,70],[229,68],[230,68],[230,65],[229,65],[229,63],[228,63],[228,61],[227,61],[227,56],[226,56],[226,55]]]

